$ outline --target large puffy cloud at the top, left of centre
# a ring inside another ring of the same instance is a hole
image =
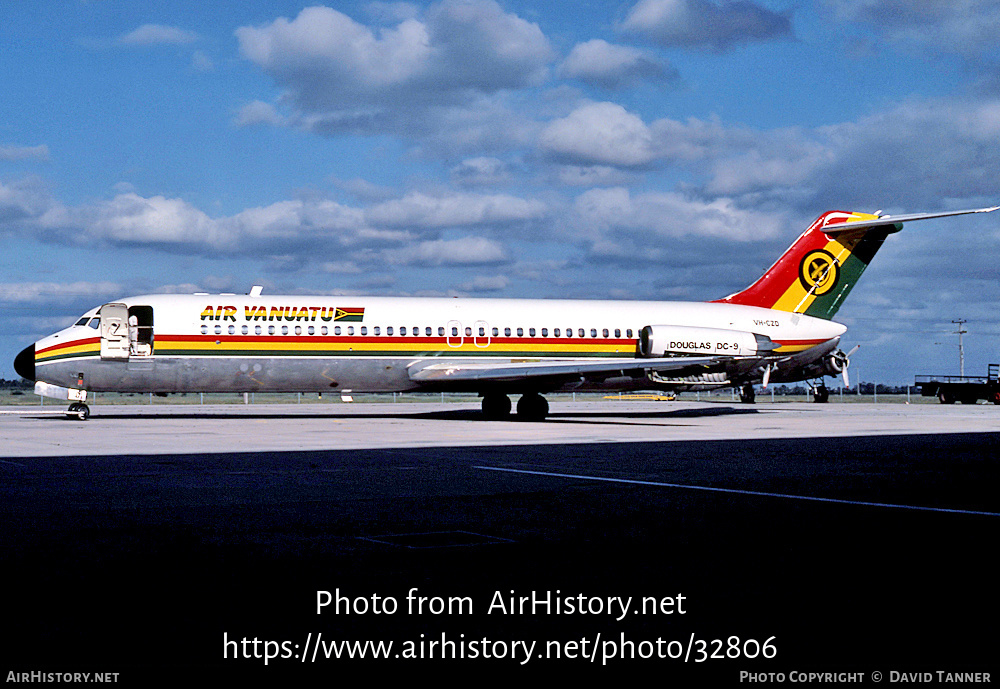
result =
[[[492,0],[443,0],[388,27],[308,7],[236,37],[242,55],[285,89],[300,121],[326,132],[402,126],[421,108],[537,84],[554,59],[536,24]]]

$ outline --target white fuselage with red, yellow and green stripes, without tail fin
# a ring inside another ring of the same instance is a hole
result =
[[[114,318],[120,322],[109,331]],[[39,340],[35,378],[93,391],[437,389],[412,380],[410,368],[427,361],[634,360],[646,326],[753,333],[774,343],[763,358],[799,364],[831,351],[845,331],[827,320],[720,303],[146,295],[92,309]],[[684,344],[697,350],[701,343]],[[762,357],[740,370],[750,375]],[[656,386],[629,378],[557,387]]]

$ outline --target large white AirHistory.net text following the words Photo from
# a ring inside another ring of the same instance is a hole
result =
[[[614,615],[621,622],[630,612],[634,615],[684,615],[683,593],[676,596],[643,596],[632,607],[633,597],[587,596],[583,593],[561,595],[561,591],[532,591],[530,596],[518,596],[515,591],[505,595],[495,591],[488,615]]]

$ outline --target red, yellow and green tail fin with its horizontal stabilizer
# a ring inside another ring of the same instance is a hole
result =
[[[882,242],[903,229],[904,222],[989,213],[997,208],[1000,206],[896,216],[880,212],[828,211],[819,216],[755,283],[717,301],[830,319],[882,247]]]

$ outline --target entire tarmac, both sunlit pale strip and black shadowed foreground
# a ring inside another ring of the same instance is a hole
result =
[[[998,677],[992,406],[7,411],[16,673]]]

